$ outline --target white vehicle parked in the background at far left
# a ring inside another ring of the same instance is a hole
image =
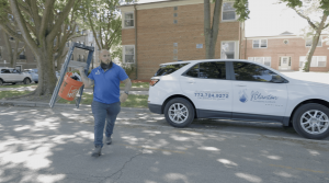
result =
[[[31,73],[21,72],[14,68],[0,67],[0,85],[3,83],[23,82],[24,84],[30,84],[32,82]]]

